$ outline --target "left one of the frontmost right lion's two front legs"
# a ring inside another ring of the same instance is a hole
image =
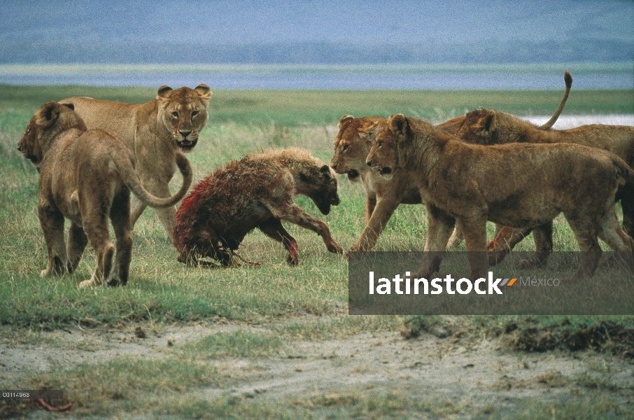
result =
[[[427,239],[425,239],[425,254],[421,269],[416,277],[430,279],[432,274],[440,269],[440,262],[447,246],[447,241],[456,226],[456,219],[430,204],[427,208]]]

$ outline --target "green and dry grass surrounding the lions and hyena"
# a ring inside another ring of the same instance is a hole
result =
[[[561,93],[218,91],[211,100],[209,123],[196,151],[189,156],[196,179],[230,159],[263,148],[299,146],[329,162],[336,134],[333,126],[344,114],[388,116],[404,112],[435,123],[477,107],[520,115],[549,115],[561,99]],[[239,253],[249,260],[262,262],[262,266],[188,269],[176,261],[176,251],[151,210],[146,211],[136,225],[131,277],[125,288],[77,288],[94,269],[94,253],[90,249],[75,274],[41,279],[39,272],[45,267],[46,250],[36,214],[38,174],[15,150],[15,144],[27,120],[43,102],[73,95],[145,102],[155,96],[155,90],[1,87],[0,324],[6,337],[35,344],[40,332],[73,325],[108,329],[119,323],[213,323],[221,318],[241,325],[255,323],[262,330],[244,328],[203,337],[174,347],[157,360],[139,355],[71,370],[52,369],[25,377],[23,383],[36,388],[64,388],[75,404],[77,415],[115,412],[202,419],[407,418],[423,412],[432,417],[469,413],[476,417],[507,418],[508,413],[496,406],[467,407],[457,400],[437,401],[433,395],[414,398],[407,389],[398,386],[392,393],[361,392],[356,388],[320,390],[314,395],[258,402],[235,400],[224,394],[213,398],[196,395],[203,388],[234,383],[234,379],[218,367],[222,360],[270,358],[293,351],[293,345],[299,341],[341,339],[377,330],[400,331],[406,328],[406,318],[342,316],[348,298],[347,261],[327,253],[323,242],[311,232],[287,226],[300,244],[298,267],[286,265],[285,251],[279,244],[253,232],[246,237]],[[634,92],[573,90],[565,112],[634,113]],[[360,184],[353,184],[344,177],[339,179],[339,187],[341,204],[328,216],[320,215],[306,197],[298,197],[297,202],[325,221],[334,239],[347,248],[362,230],[365,197]],[[568,226],[558,220],[555,229],[556,249],[574,250],[576,243]],[[376,249],[419,250],[425,231],[423,208],[401,206]],[[530,251],[532,247],[532,241],[525,240],[518,249]],[[307,316],[310,321],[302,321]],[[460,337],[465,339],[504,337],[509,348],[518,351],[530,350],[531,339],[543,342],[544,337],[557,338],[547,349],[570,350],[566,343],[577,334],[588,337],[589,344],[584,348],[618,356],[630,347],[624,344],[627,342],[615,342],[613,332],[631,332],[634,318],[465,316],[418,318],[418,324],[410,321],[408,325],[431,330],[437,324],[452,332],[460,331]],[[607,332],[612,340],[601,338]],[[577,379],[579,386],[589,390],[589,399],[572,396],[552,404],[535,402],[514,415],[516,418],[533,415],[534,418],[551,418],[557,414],[557,418],[572,419],[586,412],[596,412],[597,418],[626,418],[631,409],[628,412],[627,408],[619,407],[610,394],[610,386],[605,386],[602,380],[594,376]],[[4,386],[8,385],[3,384],[0,377],[0,387]]]

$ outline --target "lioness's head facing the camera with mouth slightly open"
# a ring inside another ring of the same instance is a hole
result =
[[[181,87],[172,90],[167,85],[159,87],[158,120],[162,123],[176,146],[183,152],[191,151],[198,142],[198,135],[207,123],[207,106],[211,90],[201,83],[195,89]]]

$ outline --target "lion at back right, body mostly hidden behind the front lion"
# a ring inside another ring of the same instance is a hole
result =
[[[634,166],[634,127],[617,125],[583,125],[571,130],[541,130],[519,117],[502,111],[479,109],[467,113],[456,132],[460,139],[472,144],[509,143],[570,143],[603,149]],[[634,186],[625,184],[617,191],[617,201],[623,209],[623,230],[634,235]],[[523,260],[523,267],[541,266],[553,248],[552,224],[535,228],[533,239],[537,253]],[[511,249],[531,232],[531,229],[502,229],[488,245],[490,262],[500,262]]]

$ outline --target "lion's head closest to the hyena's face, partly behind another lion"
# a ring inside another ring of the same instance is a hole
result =
[[[348,174],[348,179],[358,181],[360,174],[369,169],[365,165],[365,158],[386,121],[379,117],[341,117],[337,124],[339,133],[334,139],[334,156],[330,161],[334,172]]]

